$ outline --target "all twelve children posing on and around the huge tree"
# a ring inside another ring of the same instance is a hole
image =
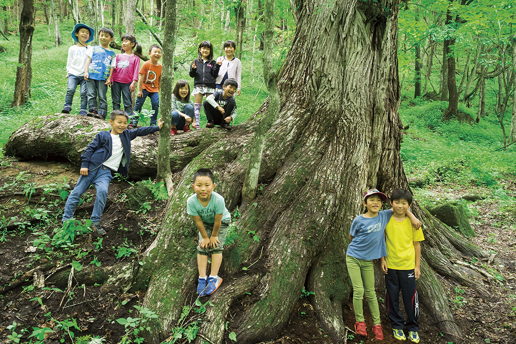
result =
[[[81,156],[80,176],[70,193],[62,221],[73,218],[80,196],[91,186],[96,189],[96,199],[91,215],[94,233],[106,233],[100,225],[104,210],[107,190],[112,174],[118,172],[127,176],[131,157],[131,140],[138,136],[157,132],[163,126],[157,119],[159,109],[159,91],[161,66],[158,64],[162,50],[158,45],[149,48],[150,60],[140,69],[140,59],[134,54],[141,53],[141,46],[132,35],[122,37],[122,53],[109,50],[113,32],[102,28],[99,34],[101,45],[88,46],[92,40],[93,29],[85,24],[75,25],[72,38],[77,42],[70,47],[67,76],[68,91],[63,112],[69,113],[75,89],[80,85],[80,114],[105,119],[107,113],[106,92],[111,86],[113,111],[110,113],[109,132],[100,132],[88,145]],[[186,80],[179,80],[172,96],[172,129],[175,135],[179,130],[190,131],[190,125],[200,128],[199,115],[203,97],[206,113],[206,127],[220,125],[227,130],[235,119],[236,104],[234,94],[240,94],[240,61],[233,56],[235,43],[224,43],[225,56],[213,60],[213,46],[209,41],[199,45],[198,58],[191,62],[190,76],[194,78],[193,96],[190,100],[190,86]],[[151,126],[137,128],[137,117],[131,106],[131,92],[138,85],[138,100],[134,111],[138,112],[147,97],[150,97],[154,113]],[[87,91],[86,91],[87,90]],[[87,94],[87,95],[86,95]],[[124,111],[120,110],[120,96],[124,102]],[[99,103],[96,98],[98,97]],[[97,106],[97,104],[99,106]],[[199,280],[197,292],[199,297],[213,293],[222,283],[218,271],[222,262],[222,251],[231,216],[225,207],[224,198],[214,191],[215,180],[208,169],[199,169],[193,175],[192,194],[187,200],[187,214],[190,215],[199,232],[197,246],[197,264]],[[346,251],[346,265],[353,285],[353,308],[356,317],[355,330],[367,336],[363,315],[363,297],[367,299],[373,316],[375,338],[383,340],[380,324],[380,311],[375,293],[374,263],[380,259],[381,270],[385,274],[386,306],[391,319],[393,334],[396,339],[405,340],[404,326],[408,337],[419,342],[417,319],[419,305],[415,281],[420,277],[420,241],[424,240],[421,222],[408,210],[412,204],[409,191],[396,189],[391,194],[392,208],[381,210],[382,202],[387,197],[384,193],[370,189],[363,195],[362,204],[366,212],[355,218],[351,224]],[[414,227],[414,228],[412,228]],[[208,256],[211,255],[211,274],[207,276]],[[404,321],[399,311],[399,292],[402,292],[407,313]]]

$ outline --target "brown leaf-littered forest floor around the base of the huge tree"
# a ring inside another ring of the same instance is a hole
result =
[[[109,188],[109,201],[102,216],[106,235],[101,238],[92,237],[91,234],[79,236],[74,242],[76,245],[67,250],[48,249],[48,245],[47,249],[36,248],[35,240],[44,238],[45,234],[50,237],[53,235],[42,233],[42,230],[38,229],[42,227],[41,223],[45,219],[46,227],[52,227],[54,224],[56,228],[60,225],[59,219],[51,219],[43,211],[45,208],[52,209],[52,206],[55,209],[64,207],[64,201],[58,191],[54,190],[58,188],[55,185],[62,184],[63,181],[71,186],[75,185],[78,170],[66,162],[17,162],[8,159],[2,159],[0,162],[0,343],[14,342],[13,331],[20,334],[20,342],[28,343],[34,337],[27,337],[37,334],[34,330],[38,328],[43,329],[39,330],[39,334],[45,336],[47,343],[79,343],[80,337],[87,335],[104,337],[106,343],[120,342],[126,332],[124,326],[116,320],[137,316],[133,306],[142,301],[143,292],[130,294],[120,290],[104,289],[98,284],[79,285],[73,279],[69,283],[67,280],[52,281],[49,278],[45,281],[46,288],[40,289],[34,286],[31,274],[24,274],[36,267],[41,270],[45,267],[70,270],[70,260],[80,261],[83,265],[100,263],[104,266],[122,259],[134,260],[154,240],[166,201],[154,201],[147,211],[130,210],[127,208],[127,202],[123,201],[123,191],[131,185],[114,179]],[[504,189],[514,196],[516,183],[508,180],[500,183],[503,183]],[[37,187],[41,185],[47,185],[47,190]],[[34,188],[34,191],[29,199],[27,195],[31,188]],[[425,193],[435,195],[436,202],[457,198],[465,192],[492,191],[479,187],[466,189],[449,183],[425,188]],[[77,208],[76,215],[87,218],[91,214],[93,202],[92,189],[85,195],[85,202]],[[485,299],[473,288],[460,286],[446,277],[440,277],[455,321],[463,333],[463,339],[454,343],[516,343],[514,210],[501,211],[499,202],[493,199],[471,203],[469,209],[472,213],[470,223],[477,234],[471,241],[483,250],[496,254],[489,266],[486,261],[479,261],[473,257],[468,258],[469,262],[489,271],[495,279],[491,282],[482,281],[492,295],[491,298]],[[12,222],[17,224],[14,225]],[[424,249],[424,244],[422,248]],[[14,288],[10,289],[11,287]],[[384,328],[383,342],[397,343],[392,336],[390,322],[385,313],[383,291],[377,290],[377,295]],[[345,342],[378,342],[372,337],[372,320],[367,313],[367,306],[364,306],[369,333],[367,338],[352,331],[354,315],[351,300],[343,310],[344,322],[349,329],[347,337],[344,338]],[[18,324],[16,329],[8,329],[13,322]],[[449,343],[445,334],[439,332],[437,324],[426,316],[424,308],[420,324],[421,343]],[[47,334],[43,334],[45,327]],[[27,331],[21,332],[23,329]],[[227,341],[232,342],[229,339]],[[179,342],[183,343],[186,340]],[[303,297],[296,304],[280,336],[267,342],[272,343],[330,344],[333,341],[319,325],[310,299]]]

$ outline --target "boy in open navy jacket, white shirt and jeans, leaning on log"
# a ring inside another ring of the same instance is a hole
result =
[[[82,163],[80,165],[79,180],[68,196],[62,218],[63,222],[73,217],[80,196],[91,185],[94,185],[96,199],[91,214],[92,227],[97,235],[106,233],[104,228],[100,226],[100,216],[106,206],[107,189],[113,179],[112,172],[118,172],[127,176],[131,158],[131,140],[138,136],[146,136],[157,132],[163,126],[163,122],[159,119],[157,126],[126,130],[127,120],[128,116],[125,111],[112,111],[109,116],[111,130],[97,134],[93,142],[84,151],[84,154],[80,156]]]

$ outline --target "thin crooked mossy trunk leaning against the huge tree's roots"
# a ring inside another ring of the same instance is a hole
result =
[[[267,133],[274,120],[278,117],[280,109],[280,93],[278,83],[272,64],[272,47],[274,38],[274,0],[266,0],[265,3],[265,42],[263,51],[263,78],[269,91],[269,106],[264,113],[264,118],[254,130],[249,154],[249,165],[247,167],[246,178],[242,187],[241,209],[254,200],[258,187],[258,176],[262,165],[262,154]]]

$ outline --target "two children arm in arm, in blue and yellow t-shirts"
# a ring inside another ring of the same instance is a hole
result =
[[[346,266],[353,285],[353,309],[355,331],[367,337],[362,302],[365,294],[373,317],[375,338],[383,340],[380,310],[375,292],[374,263],[380,259],[385,274],[385,304],[391,319],[394,338],[405,340],[404,326],[412,342],[420,341],[417,319],[419,300],[415,281],[421,276],[420,241],[425,240],[421,221],[410,212],[412,194],[404,189],[395,189],[391,194],[392,208],[380,210],[387,196],[377,189],[367,190],[362,204],[366,212],[351,223],[346,251]],[[401,290],[407,321],[399,311]]]

